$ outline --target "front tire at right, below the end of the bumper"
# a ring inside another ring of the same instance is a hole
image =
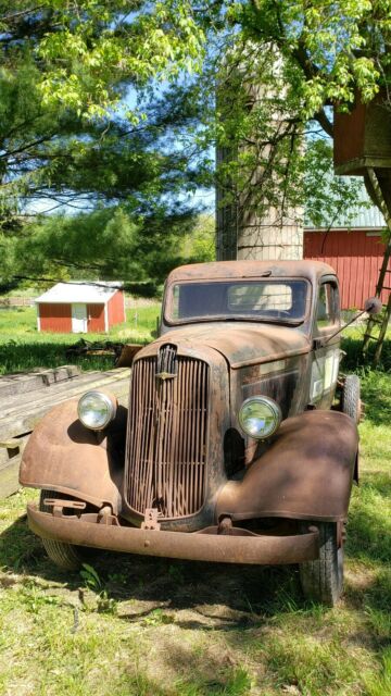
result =
[[[338,548],[336,522],[314,525],[319,530],[319,558],[300,563],[301,586],[306,599],[335,607],[343,589],[343,546]]]

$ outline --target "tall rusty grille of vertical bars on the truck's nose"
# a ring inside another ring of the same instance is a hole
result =
[[[135,362],[127,434],[126,498],[139,514],[194,514],[204,502],[207,455],[209,366],[176,356],[167,345],[156,358]]]

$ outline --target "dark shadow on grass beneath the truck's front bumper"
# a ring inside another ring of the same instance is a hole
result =
[[[297,567],[254,567],[203,563],[92,550],[88,558],[101,579],[102,587],[117,601],[142,600],[194,609],[202,605],[202,620],[194,617],[184,627],[207,630],[205,619],[216,620],[218,627],[230,630],[253,625],[258,614],[273,614],[283,608],[303,605]],[[21,518],[0,535],[0,567],[46,581],[65,583],[70,589],[84,584],[78,572],[62,571],[46,557],[41,542]],[[225,606],[234,613],[218,617],[209,607]],[[239,612],[239,613],[237,613]],[[131,611],[124,620],[137,621]],[[181,625],[179,621],[179,625]],[[210,626],[211,629],[213,626]]]

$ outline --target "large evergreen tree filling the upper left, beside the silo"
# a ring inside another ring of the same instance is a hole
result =
[[[174,8],[140,0],[20,0],[10,9],[0,1],[3,279],[43,272],[50,265],[43,250],[54,253],[54,263],[62,260],[63,269],[78,262],[80,273],[83,263],[89,272],[97,257],[93,225],[97,240],[102,229],[106,239],[122,221],[127,250],[136,237],[144,238],[146,248],[155,238],[159,248],[163,233],[168,250],[175,234],[188,232],[186,192],[203,181],[204,167],[176,147],[175,134],[191,125],[193,108],[179,88],[169,103],[150,89],[154,79],[169,91],[181,69],[199,66],[202,29],[186,3]],[[104,206],[115,217],[112,226]],[[64,207],[83,214],[31,220]],[[59,253],[64,231],[74,247],[65,244]],[[87,234],[91,259],[78,254]],[[98,265],[101,273],[114,273],[110,261]],[[119,261],[116,270],[124,272]],[[144,276],[141,266],[139,275]]]

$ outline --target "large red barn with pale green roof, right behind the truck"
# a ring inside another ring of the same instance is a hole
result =
[[[365,194],[363,199],[368,200]],[[336,220],[331,226],[306,224],[304,259],[325,261],[337,271],[342,309],[363,309],[365,300],[375,295],[386,250],[384,229],[384,220],[375,206],[358,210],[350,220]],[[388,295],[383,290],[384,303]]]

